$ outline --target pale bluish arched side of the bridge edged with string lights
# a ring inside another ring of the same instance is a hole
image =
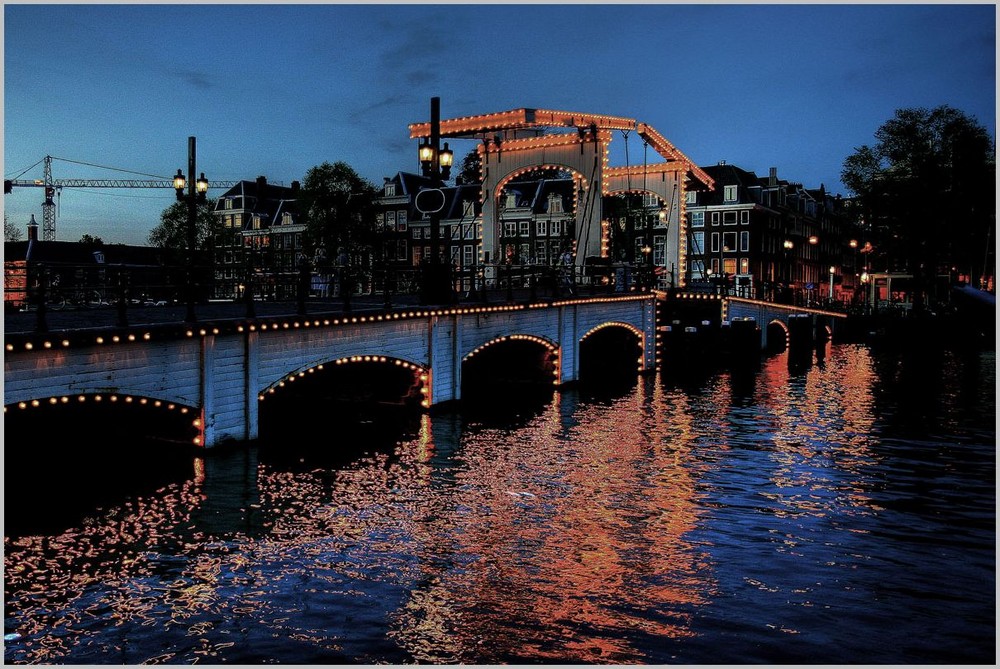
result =
[[[578,379],[581,344],[615,329],[656,366],[653,294],[414,308],[8,335],[4,411],[142,403],[190,419],[199,446],[258,437],[260,403],[326,366],[401,367],[430,407],[461,398],[463,362],[508,342],[539,347],[556,385]],[[55,406],[52,406],[55,405]]]

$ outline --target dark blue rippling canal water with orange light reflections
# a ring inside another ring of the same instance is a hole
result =
[[[995,354],[787,362],[8,443],[5,662],[994,664]]]

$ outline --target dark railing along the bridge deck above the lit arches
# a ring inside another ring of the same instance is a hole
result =
[[[138,323],[254,318],[292,313],[392,308],[423,303],[427,266],[243,271],[186,265],[7,262],[8,332]],[[453,303],[503,303],[596,296],[655,287],[632,265],[498,264],[449,268]]]

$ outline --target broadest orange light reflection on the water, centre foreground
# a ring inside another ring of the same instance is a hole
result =
[[[696,474],[662,417],[620,424],[659,405],[655,383],[633,390],[592,404],[560,393],[517,433],[466,434],[419,528],[433,550],[418,587],[392,615],[415,660],[635,661],[631,636],[690,633],[706,590],[683,539]]]

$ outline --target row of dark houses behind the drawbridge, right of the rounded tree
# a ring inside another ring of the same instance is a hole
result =
[[[605,196],[602,259],[651,267],[662,288],[725,286],[747,297],[799,301],[853,298],[865,273],[865,240],[844,199],[823,186],[779,179],[775,168],[766,177],[726,163],[702,169],[715,188],[684,195],[681,262],[666,255],[665,203],[650,193]],[[557,177],[507,184],[498,198],[499,262],[553,265],[575,252],[575,183]],[[379,224],[396,264],[417,266],[430,252],[430,217],[414,205],[427,185],[413,174],[385,179]],[[460,270],[482,265],[478,186],[444,192],[444,257]]]

